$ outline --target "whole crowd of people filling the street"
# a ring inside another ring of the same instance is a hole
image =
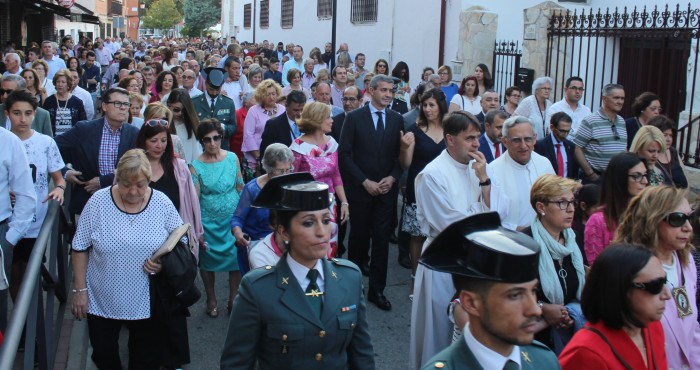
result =
[[[5,53],[0,90],[0,332],[46,202],[70,186],[71,309],[100,369],[121,368],[122,326],[130,368],[196,362],[192,302],[163,306],[151,258],[183,224],[212,319],[228,274],[222,368],[373,369],[366,302],[392,310],[398,244],[411,370],[700,369],[697,215],[652,92],[625,119],[619,84],[592,111],[577,76],[558,102],[547,76],[523,98],[485,64],[411,80],[346,43],[25,51]]]

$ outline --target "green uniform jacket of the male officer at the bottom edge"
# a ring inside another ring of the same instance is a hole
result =
[[[544,344],[533,341],[528,346],[520,346],[521,370],[558,370],[561,369],[557,356]],[[467,347],[464,337],[442,350],[428,361],[421,370],[500,370],[484,369],[476,360],[471,349]]]

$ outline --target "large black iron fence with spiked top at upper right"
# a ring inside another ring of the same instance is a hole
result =
[[[548,28],[545,71],[556,81],[551,99],[562,98],[563,82],[570,76],[586,84],[583,104],[596,110],[601,89],[608,83],[625,86],[625,106],[621,115],[632,116],[635,96],[653,91],[661,97],[664,114],[678,121],[687,110],[690,122],[679,122],[676,147],[686,164],[700,167],[700,121],[693,121],[694,91],[700,48],[700,9],[666,5],[638,10],[567,10],[555,14]],[[693,48],[695,49],[693,51]],[[690,70],[690,73],[688,71]],[[690,78],[689,78],[690,76]],[[687,98],[690,99],[687,99]]]

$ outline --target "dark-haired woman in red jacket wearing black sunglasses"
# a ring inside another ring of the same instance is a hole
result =
[[[588,324],[559,355],[562,369],[668,369],[659,320],[670,298],[666,272],[648,249],[610,246],[588,274],[581,293]]]

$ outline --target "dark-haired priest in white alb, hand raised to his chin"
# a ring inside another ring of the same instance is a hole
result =
[[[487,175],[486,158],[479,152],[481,130],[476,117],[452,112],[443,121],[443,131],[447,148],[416,176],[417,217],[428,235],[423,250],[447,226],[489,211],[489,204],[500,197],[498,187]],[[454,293],[449,274],[418,265],[411,309],[409,370],[421,368],[451,343],[453,324],[447,308]]]

